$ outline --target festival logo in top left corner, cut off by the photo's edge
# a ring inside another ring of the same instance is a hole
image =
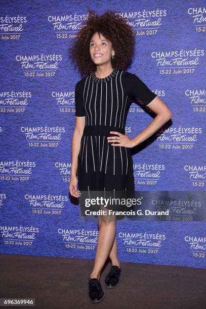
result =
[[[3,5],[2,5],[3,6]],[[18,40],[27,23],[26,16],[1,16],[0,18],[1,40]]]

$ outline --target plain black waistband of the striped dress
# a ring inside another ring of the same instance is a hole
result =
[[[109,133],[110,131],[120,132],[121,134],[125,134],[125,128],[118,128],[118,127],[109,127],[109,126],[85,126],[83,135],[116,135],[114,133]]]

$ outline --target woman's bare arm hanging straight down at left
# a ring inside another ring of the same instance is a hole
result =
[[[75,128],[71,143],[71,178],[69,183],[69,192],[74,197],[79,197],[80,193],[77,190],[76,172],[78,168],[78,154],[80,151],[81,136],[85,128],[85,117],[75,117]]]

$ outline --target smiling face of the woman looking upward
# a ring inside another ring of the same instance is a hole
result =
[[[114,56],[112,43],[101,33],[95,32],[90,40],[90,56],[96,65],[111,63],[111,57]]]

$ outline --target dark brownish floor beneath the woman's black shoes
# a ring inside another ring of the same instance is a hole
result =
[[[88,278],[92,260],[12,254],[0,258],[0,297],[35,298],[37,309],[206,308],[205,269],[121,263],[118,287],[106,289],[108,264],[100,279],[105,297],[91,303]]]

